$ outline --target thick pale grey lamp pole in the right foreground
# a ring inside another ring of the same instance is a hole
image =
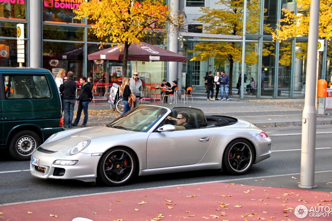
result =
[[[319,25],[319,2],[311,0],[308,35],[308,58],[306,72],[306,90],[302,114],[302,146],[301,146],[301,173],[298,187],[313,189],[315,182],[315,149],[316,149],[316,66],[317,41]],[[312,90],[314,89],[314,90]]]

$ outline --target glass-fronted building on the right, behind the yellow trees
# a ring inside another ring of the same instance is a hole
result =
[[[215,4],[219,1],[205,1],[205,7],[220,8],[220,10],[230,10],[227,5]],[[221,1],[220,1],[221,2]],[[227,2],[227,1],[225,1]],[[209,23],[204,23],[198,20],[203,16],[202,12],[195,9],[194,5],[187,4],[185,13],[187,21],[191,25],[201,25],[203,34],[222,34],[223,37],[218,36],[204,36],[195,34],[186,35],[184,41],[185,54],[189,60],[197,56],[200,52],[195,48],[202,48],[204,43],[206,48],[220,47],[227,51],[228,48],[241,49],[241,57],[231,59],[222,56],[211,56],[204,61],[193,60],[188,61],[188,64],[184,66],[184,72],[187,73],[187,84],[195,86],[204,86],[202,80],[207,71],[221,71],[225,70],[226,74],[231,76],[231,86],[233,88],[233,94],[237,93],[235,90],[239,77],[241,76],[242,69],[242,56],[244,55],[244,74],[246,75],[246,82],[243,82],[243,98],[244,99],[265,99],[265,98],[304,98],[305,90],[305,74],[306,74],[306,48],[307,48],[307,36],[301,36],[296,38],[288,38],[284,41],[273,41],[271,31],[278,28],[280,19],[284,18],[282,9],[300,12],[300,8],[296,7],[295,0],[251,0],[247,1],[246,10],[246,27],[245,36],[242,36],[243,40],[227,39],[229,33],[213,33],[211,31]],[[192,12],[192,13],[191,13]],[[241,30],[243,32],[243,13],[239,16],[242,25]],[[212,20],[211,20],[212,21]],[[205,27],[207,27],[206,31]],[[218,27],[216,26],[216,29]],[[188,32],[191,32],[188,30]],[[197,33],[197,32],[196,32]],[[203,39],[204,38],[204,39]],[[215,41],[214,41],[215,40]],[[243,44],[244,47],[243,47]],[[213,45],[213,46],[211,46]],[[232,45],[230,47],[229,45]],[[235,46],[234,46],[235,45]],[[325,43],[325,51],[323,55],[323,65],[321,69],[321,75],[318,79],[326,79],[327,82],[331,78],[330,57],[331,48],[329,48],[330,42]],[[243,53],[242,48],[245,48]],[[193,50],[194,49],[194,50]],[[231,50],[231,49],[228,49]],[[217,53],[216,53],[217,54]],[[240,54],[240,53],[239,53]],[[231,61],[232,60],[232,61]],[[231,73],[230,73],[231,71]],[[253,78],[255,82],[255,90],[253,93],[247,93],[246,85],[250,84],[250,79]]]

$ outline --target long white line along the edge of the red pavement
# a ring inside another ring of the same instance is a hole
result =
[[[318,173],[330,173],[330,172],[332,172],[332,170],[328,170],[328,171],[316,171],[315,173],[318,174]],[[68,199],[68,198],[75,198],[75,197],[81,197],[81,196],[94,196],[94,195],[102,195],[102,194],[118,193],[118,192],[129,192],[129,191],[138,191],[138,190],[147,190],[147,189],[160,189],[160,188],[176,187],[176,186],[190,186],[190,185],[197,185],[197,184],[225,183],[225,182],[232,182],[232,181],[241,181],[241,180],[250,180],[250,179],[262,179],[262,178],[282,177],[282,176],[294,176],[294,175],[300,175],[300,173],[296,173],[296,174],[280,174],[280,175],[271,175],[271,176],[264,176],[264,177],[247,177],[247,178],[230,179],[230,180],[207,181],[207,182],[192,183],[192,184],[182,184],[182,185],[180,184],[180,185],[169,185],[169,186],[157,186],[157,187],[150,187],[150,188],[128,189],[128,190],[119,190],[119,191],[112,191],[112,192],[90,193],[90,194],[82,194],[82,195],[75,195],[75,196],[64,196],[64,197],[56,197],[56,198],[49,198],[49,199],[40,199],[40,200],[15,202],[15,203],[4,203],[4,204],[0,204],[0,206],[15,205],[15,204],[21,204],[21,203],[31,203],[31,202],[42,202],[42,201],[49,201],[49,200],[54,200],[54,199]]]

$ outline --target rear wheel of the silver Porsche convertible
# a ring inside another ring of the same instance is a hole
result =
[[[245,174],[254,161],[254,151],[245,139],[230,142],[223,155],[223,166],[231,175]]]

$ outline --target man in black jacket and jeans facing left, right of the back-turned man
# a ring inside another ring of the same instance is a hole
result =
[[[78,100],[80,102],[78,103],[77,115],[76,115],[76,119],[73,123],[74,127],[76,127],[78,122],[80,121],[82,110],[84,112],[84,120],[83,120],[83,123],[82,123],[81,127],[86,127],[86,123],[88,122],[89,102],[93,98],[91,87],[86,82],[86,77],[81,77],[80,78],[80,83],[82,84],[80,95],[78,96]]]

